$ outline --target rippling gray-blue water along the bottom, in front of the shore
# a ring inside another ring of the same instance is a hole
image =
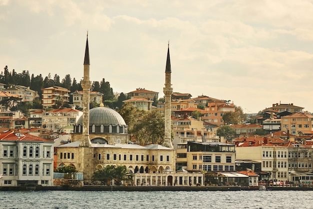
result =
[[[312,208],[313,191],[0,191],[0,208]]]

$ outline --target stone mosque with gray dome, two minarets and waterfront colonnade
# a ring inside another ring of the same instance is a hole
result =
[[[83,63],[83,114],[73,126],[71,142],[56,147],[57,166],[72,165],[91,183],[93,172],[106,165],[125,165],[133,173],[134,185],[203,184],[202,173],[175,171],[175,150],[170,139],[170,60],[169,46],[165,67],[165,132],[164,144],[140,146],[129,143],[127,124],[115,110],[96,107],[89,110],[88,35]]]

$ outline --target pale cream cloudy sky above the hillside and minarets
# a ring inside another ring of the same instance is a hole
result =
[[[313,1],[0,0],[0,67],[83,76],[113,92],[163,97],[169,42],[174,92],[313,112]]]

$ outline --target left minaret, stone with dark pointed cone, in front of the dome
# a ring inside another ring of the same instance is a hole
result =
[[[82,137],[79,146],[91,146],[89,139],[89,91],[91,88],[91,82],[89,79],[89,48],[88,48],[88,32],[85,49],[85,57],[83,61],[83,79],[81,81],[82,87]]]

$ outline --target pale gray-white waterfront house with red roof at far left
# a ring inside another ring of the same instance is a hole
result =
[[[53,185],[53,141],[26,133],[0,134],[0,186]]]

